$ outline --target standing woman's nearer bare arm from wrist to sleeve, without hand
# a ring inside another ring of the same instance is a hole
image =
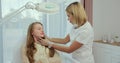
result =
[[[78,48],[80,48],[83,44],[79,43],[77,41],[74,41],[69,47],[66,46],[61,46],[61,45],[57,45],[57,44],[52,44],[51,47],[59,50],[59,51],[63,51],[63,52],[67,52],[67,53],[72,53],[73,51],[77,50]]]

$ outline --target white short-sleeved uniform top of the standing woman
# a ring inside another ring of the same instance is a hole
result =
[[[70,41],[77,41],[83,46],[72,53],[72,57],[80,63],[94,63],[92,55],[92,44],[94,39],[93,28],[89,22],[70,32]]]

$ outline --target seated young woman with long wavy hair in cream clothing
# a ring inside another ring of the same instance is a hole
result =
[[[22,48],[23,63],[61,63],[59,54],[54,48],[38,44],[37,39],[47,40],[40,22],[33,22],[29,25],[27,40]]]

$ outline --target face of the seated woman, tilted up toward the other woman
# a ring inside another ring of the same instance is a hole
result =
[[[44,37],[44,31],[43,31],[43,27],[41,24],[35,24],[33,26],[33,36],[35,37]]]

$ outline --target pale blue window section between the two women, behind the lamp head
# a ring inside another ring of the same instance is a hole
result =
[[[47,15],[47,34],[50,37],[64,37],[66,32],[66,16],[64,1],[48,0],[48,2],[56,2],[60,6],[58,13]]]

